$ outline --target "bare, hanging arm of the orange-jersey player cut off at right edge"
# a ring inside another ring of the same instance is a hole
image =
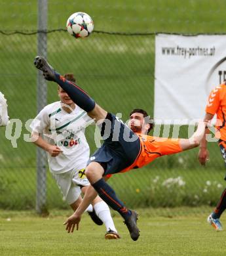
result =
[[[206,123],[209,123],[213,119],[214,115],[206,113],[206,116],[204,117],[204,121]],[[204,133],[204,137],[202,138],[200,142],[200,148],[198,152],[198,161],[200,162],[201,165],[205,165],[206,161],[209,159],[209,152],[207,150],[207,140],[206,140],[206,135],[210,133],[210,130],[208,127],[206,127],[206,131]]]

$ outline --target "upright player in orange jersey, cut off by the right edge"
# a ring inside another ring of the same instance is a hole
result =
[[[225,161],[226,165],[226,125],[225,125],[225,118],[226,118],[226,83],[222,83],[221,85],[214,88],[210,96],[208,98],[208,103],[206,105],[206,115],[204,117],[205,122],[210,122],[214,115],[217,115],[216,121],[216,132],[215,137],[219,139],[218,144],[221,150],[221,155],[223,156],[223,160]],[[203,137],[200,143],[200,150],[198,152],[198,160],[202,165],[205,165],[206,161],[209,158],[209,152],[207,150],[207,140],[206,135],[210,133],[209,129],[206,128],[205,136]],[[226,180],[226,176],[225,176]],[[226,209],[226,188],[223,190],[221,194],[221,198],[217,203],[214,212],[208,216],[207,221],[217,231],[222,230],[222,225],[219,221],[221,214]]]

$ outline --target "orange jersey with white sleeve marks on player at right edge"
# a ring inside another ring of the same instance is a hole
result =
[[[221,85],[214,88],[208,98],[206,105],[206,113],[217,114],[216,137],[217,139],[226,140],[226,85]]]

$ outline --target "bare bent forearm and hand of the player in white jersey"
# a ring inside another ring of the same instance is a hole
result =
[[[43,148],[43,150],[47,151],[50,156],[56,157],[63,152],[58,146],[51,145],[47,141],[43,140],[39,133],[33,131],[31,133],[31,139],[35,145]]]

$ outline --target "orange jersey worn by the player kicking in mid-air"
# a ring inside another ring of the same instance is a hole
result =
[[[143,167],[160,156],[176,154],[182,151],[179,146],[179,139],[152,137],[141,133],[136,133],[136,135],[138,135],[141,143],[140,153],[134,163],[123,169],[121,173]]]

